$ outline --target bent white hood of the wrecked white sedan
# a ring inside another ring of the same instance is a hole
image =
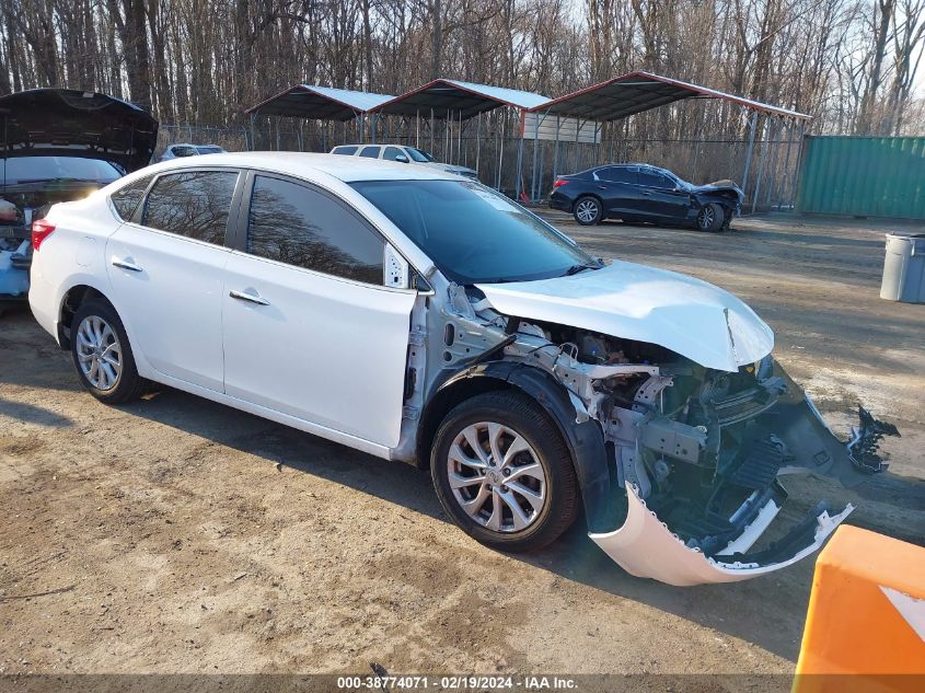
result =
[[[728,291],[635,263],[477,288],[500,313],[657,344],[705,368],[735,371],[774,347],[771,327]]]

